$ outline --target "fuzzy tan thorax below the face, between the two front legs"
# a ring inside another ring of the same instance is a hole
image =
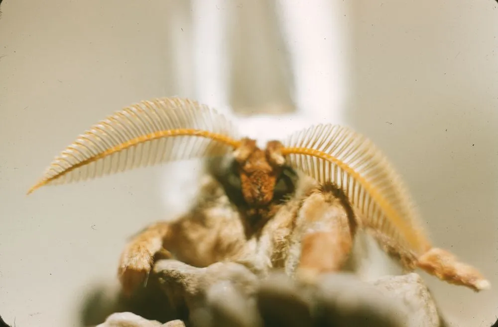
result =
[[[254,209],[238,203],[236,190],[207,175],[198,203],[173,223],[173,236],[164,247],[172,249],[177,259],[197,267],[232,261],[257,274],[265,275],[270,268],[292,273],[298,262],[296,247],[302,229],[298,212],[303,200],[316,190],[314,180],[302,177],[292,193]]]

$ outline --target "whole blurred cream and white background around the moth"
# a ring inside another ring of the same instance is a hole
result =
[[[115,282],[127,237],[185,210],[195,163],[25,196],[90,125],[174,95],[226,112],[249,136],[315,122],[368,135],[404,176],[434,243],[494,286],[476,294],[422,274],[443,315],[454,326],[496,320],[496,1],[4,0],[1,11],[7,323],[79,326],[86,292]]]

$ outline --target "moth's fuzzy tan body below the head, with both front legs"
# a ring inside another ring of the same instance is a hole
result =
[[[143,283],[163,249],[192,266],[237,262],[261,277],[274,268],[293,276],[300,265],[338,271],[347,262],[356,222],[337,189],[300,176],[292,194],[269,207],[266,217],[252,224],[250,212],[234,203],[222,183],[204,176],[186,215],[152,224],[126,246],[119,272],[125,293]]]

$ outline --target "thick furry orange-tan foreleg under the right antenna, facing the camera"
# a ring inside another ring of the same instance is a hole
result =
[[[356,220],[344,194],[331,184],[312,193],[299,210],[301,232],[298,274],[312,277],[340,271],[347,262]]]

